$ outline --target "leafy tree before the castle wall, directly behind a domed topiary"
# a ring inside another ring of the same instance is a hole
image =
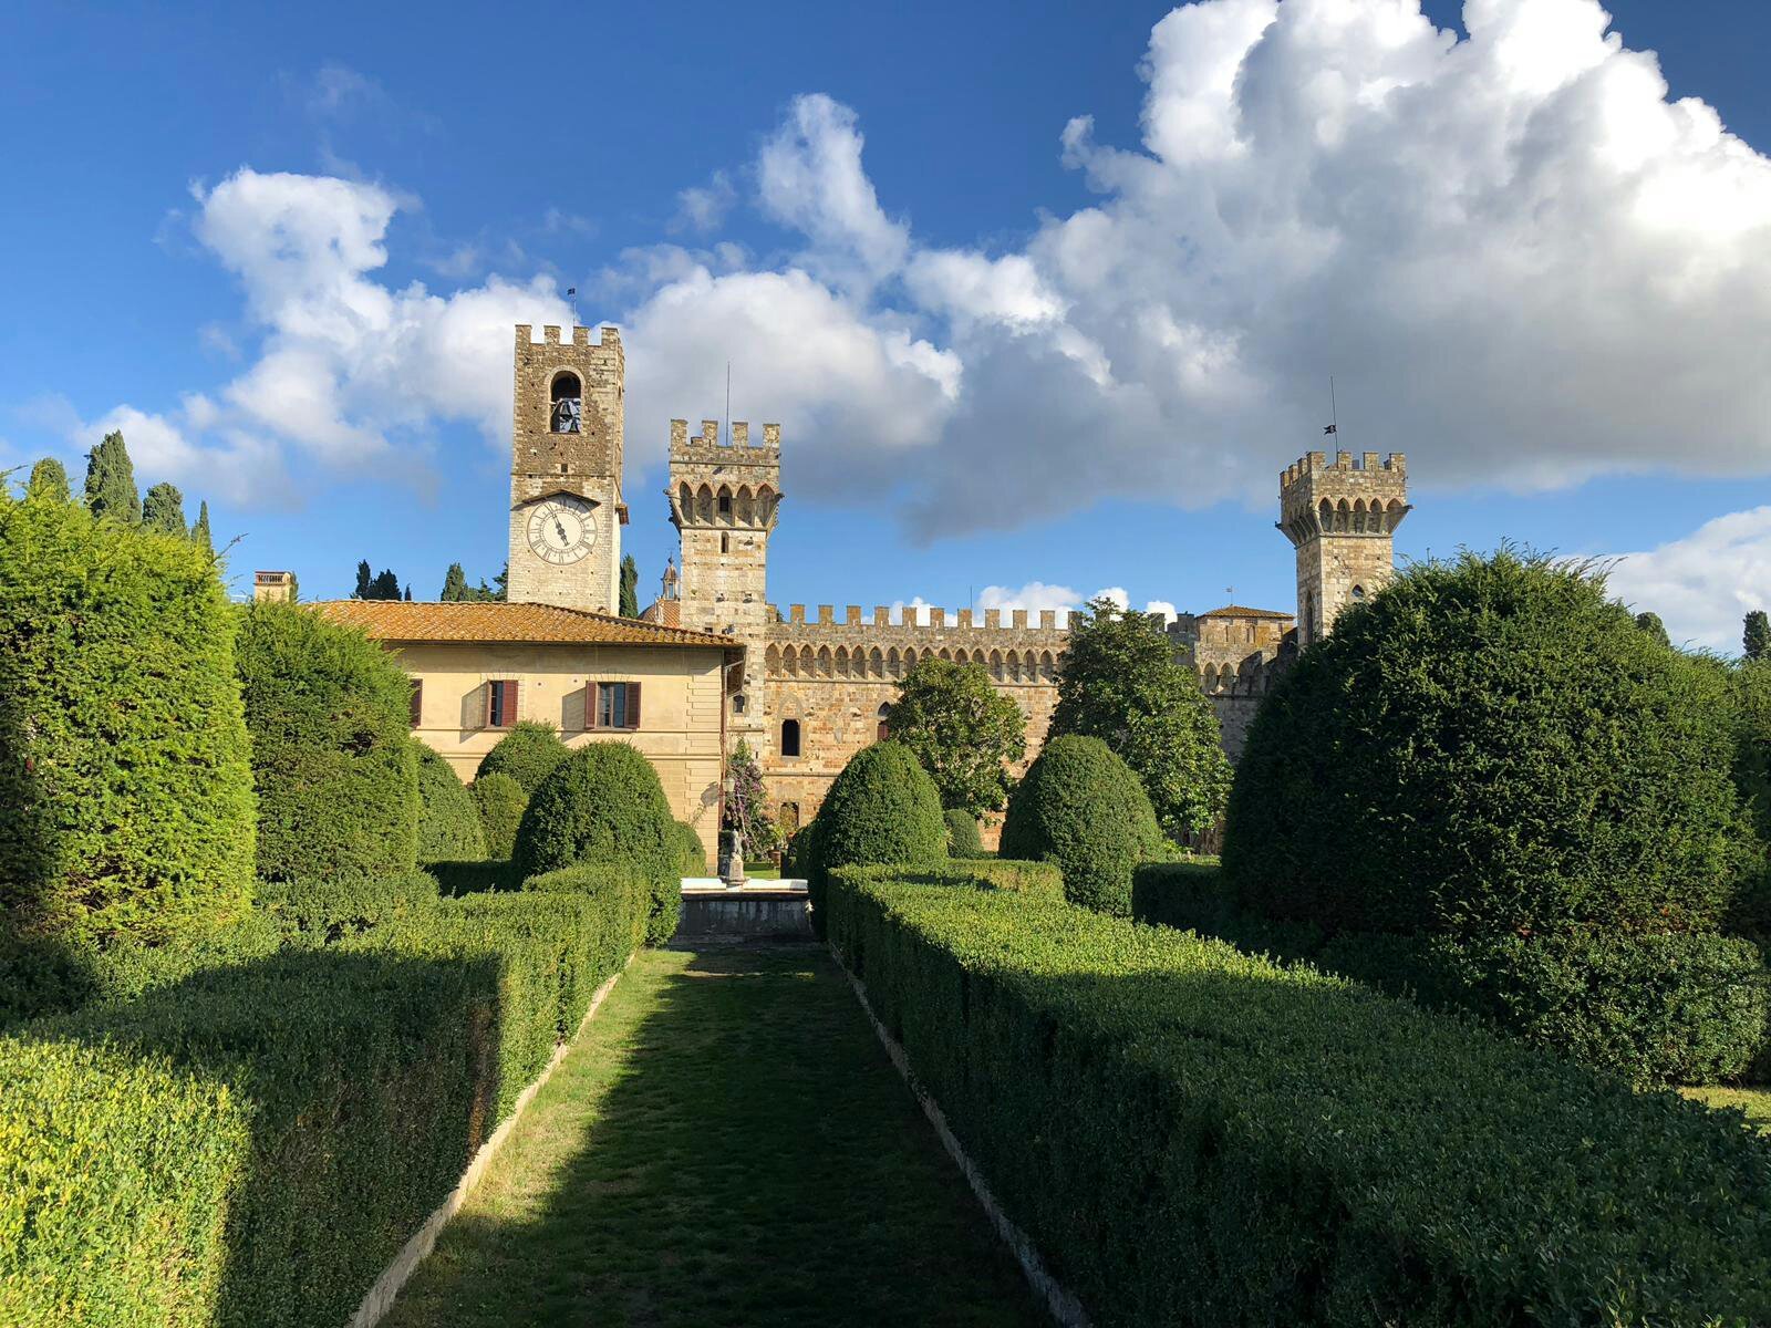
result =
[[[1149,618],[1089,600],[1057,675],[1052,737],[1105,742],[1137,777],[1171,839],[1208,830],[1229,797],[1217,710]]]

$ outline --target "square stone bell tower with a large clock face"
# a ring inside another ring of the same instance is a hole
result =
[[[615,613],[622,602],[622,335],[517,324],[510,598]]]

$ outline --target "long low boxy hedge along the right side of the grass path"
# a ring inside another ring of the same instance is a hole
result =
[[[1771,1142],[1222,942],[832,873],[831,938],[1098,1324],[1771,1321]]]

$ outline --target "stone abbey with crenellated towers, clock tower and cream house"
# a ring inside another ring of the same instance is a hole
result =
[[[519,719],[568,744],[618,738],[659,768],[677,815],[715,843],[724,754],[758,754],[772,811],[809,820],[850,756],[878,740],[898,680],[935,655],[981,664],[1027,715],[1038,753],[1057,701],[1068,622],[1052,611],[779,606],[769,544],[783,499],[779,425],[669,423],[666,503],[680,558],[639,620],[620,602],[625,356],[602,328],[519,326],[514,347],[510,602],[336,600],[413,675],[413,728],[471,779]],[[1408,513],[1401,455],[1312,452],[1280,475],[1279,529],[1296,551],[1296,613],[1226,606],[1167,632],[1199,671],[1234,756],[1288,652],[1392,574]],[[643,510],[653,510],[652,499]]]

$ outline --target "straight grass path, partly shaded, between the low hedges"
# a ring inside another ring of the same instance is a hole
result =
[[[384,1323],[1041,1316],[808,946],[641,953]]]

